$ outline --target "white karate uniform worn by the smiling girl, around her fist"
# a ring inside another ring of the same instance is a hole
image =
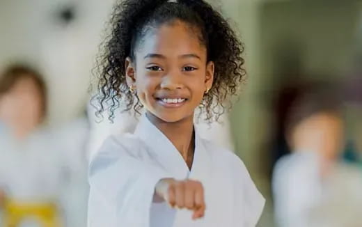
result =
[[[88,227],[255,226],[265,199],[242,161],[229,150],[200,138],[187,164],[167,137],[142,116],[134,134],[111,136],[91,160]],[[205,217],[153,203],[162,178],[189,178],[205,189]]]

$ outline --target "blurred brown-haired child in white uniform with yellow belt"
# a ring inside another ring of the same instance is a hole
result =
[[[86,198],[79,197],[87,195],[88,188],[79,182],[86,185],[83,155],[88,122],[40,127],[46,116],[46,94],[40,74],[26,66],[13,65],[0,77],[0,202],[6,227],[53,227],[62,222],[81,226],[67,206],[80,208],[72,202],[81,200],[86,219]],[[62,195],[63,191],[68,194]]]

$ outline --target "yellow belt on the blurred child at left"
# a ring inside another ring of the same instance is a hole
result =
[[[60,227],[58,211],[53,203],[19,203],[6,201],[4,227],[17,227],[26,219],[39,222],[42,227]]]

